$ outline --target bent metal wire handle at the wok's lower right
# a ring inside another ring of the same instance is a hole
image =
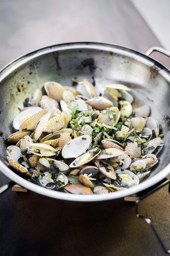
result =
[[[156,192],[157,190],[161,189],[163,186],[167,185],[168,183],[170,183],[170,180],[168,179],[164,179],[161,180],[159,183],[157,183],[156,185],[152,186],[149,189],[146,189],[140,193],[138,193],[138,200],[136,201],[136,205],[135,205],[135,212],[136,212],[136,216],[144,221],[147,222],[147,224],[149,224],[151,230],[153,231],[154,235],[156,236],[157,240],[159,241],[159,244],[161,245],[162,249],[164,250],[165,253],[170,254],[170,250],[167,250],[166,247],[164,246],[164,243],[162,242],[162,240],[160,239],[158,233],[156,232],[155,228],[153,227],[153,224],[151,222],[151,220],[145,216],[142,216],[139,214],[138,212],[138,207],[139,207],[139,202],[142,201],[144,198],[147,198],[149,195],[153,194],[154,192]],[[169,193],[170,193],[170,185],[169,185]]]

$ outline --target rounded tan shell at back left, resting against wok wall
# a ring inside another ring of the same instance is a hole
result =
[[[62,100],[62,94],[65,91],[65,88],[56,82],[46,82],[44,85],[47,95],[60,102]]]

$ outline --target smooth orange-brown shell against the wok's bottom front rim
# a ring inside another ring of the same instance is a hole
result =
[[[69,184],[64,187],[66,192],[77,195],[93,195],[94,193],[88,186],[82,184]]]

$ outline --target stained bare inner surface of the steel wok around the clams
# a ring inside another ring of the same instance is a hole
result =
[[[161,161],[147,179],[170,163],[169,72],[156,61],[122,47],[66,44],[27,55],[0,74],[0,131],[3,133],[0,159],[10,169],[2,138],[14,132],[8,124],[20,112],[18,108],[23,108],[23,101],[46,81],[72,86],[73,77],[94,82],[98,94],[103,84],[121,83],[130,87],[135,99],[133,106],[149,105],[151,116],[159,121],[164,133],[165,146],[158,155]]]

